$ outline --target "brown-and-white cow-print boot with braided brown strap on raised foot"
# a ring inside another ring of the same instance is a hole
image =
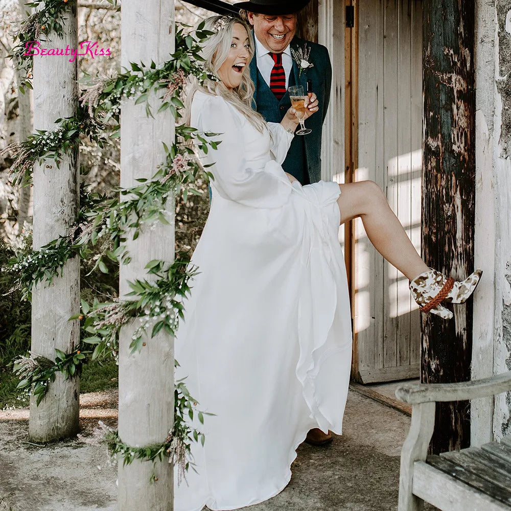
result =
[[[419,304],[422,312],[431,312],[444,319],[451,319],[453,314],[440,303],[463,304],[479,284],[482,270],[477,269],[464,281],[455,281],[443,273],[430,268],[410,281],[410,292]]]

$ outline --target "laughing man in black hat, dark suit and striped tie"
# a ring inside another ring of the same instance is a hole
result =
[[[253,104],[267,122],[280,123],[291,106],[288,87],[301,85],[307,94],[308,81],[319,101],[319,110],[307,120],[312,130],[295,135],[284,170],[301,184],[321,179],[321,129],[330,101],[332,65],[328,50],[314,42],[295,36],[297,12],[310,0],[249,0],[235,4],[240,16],[254,30],[255,58],[250,62],[250,77],[255,85]],[[298,62],[293,53],[310,51],[307,62]],[[291,51],[293,50],[293,52]],[[306,64],[312,65],[306,65]],[[301,71],[300,71],[301,68]],[[332,433],[314,428],[306,442],[324,445],[332,441]]]

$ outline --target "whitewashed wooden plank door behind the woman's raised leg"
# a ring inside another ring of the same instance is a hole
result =
[[[422,3],[357,0],[356,19],[351,177],[380,185],[420,252]],[[408,280],[375,251],[359,219],[352,242],[353,377],[363,383],[419,377],[420,313]]]

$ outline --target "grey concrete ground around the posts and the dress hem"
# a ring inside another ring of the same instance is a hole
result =
[[[86,443],[99,419],[117,423],[117,395],[80,400],[81,437],[44,447],[28,443],[26,411],[0,412],[0,511],[118,511],[117,469],[104,446]],[[344,434],[327,447],[302,444],[286,489],[250,511],[396,511],[409,424],[402,412],[350,391]]]

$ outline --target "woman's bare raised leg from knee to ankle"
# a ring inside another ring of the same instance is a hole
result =
[[[341,224],[360,217],[369,241],[408,280],[429,267],[415,250],[381,188],[373,181],[339,184]]]

